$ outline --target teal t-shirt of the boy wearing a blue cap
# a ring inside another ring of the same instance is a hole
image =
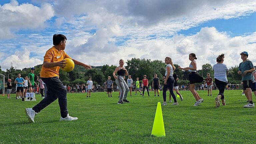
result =
[[[244,71],[246,70],[250,70],[254,68],[252,62],[250,60],[247,60],[245,62],[241,62],[239,64],[238,70],[241,71],[242,73],[242,81],[244,80],[252,80],[252,73],[246,73],[245,75],[243,75]]]

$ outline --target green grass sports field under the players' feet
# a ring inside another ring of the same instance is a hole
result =
[[[68,94],[68,110],[77,121],[59,122],[58,101],[42,110],[35,123],[28,123],[24,109],[33,107],[37,101],[22,102],[0,97],[0,143],[256,143],[256,108],[243,108],[245,96],[240,90],[225,91],[226,106],[215,108],[215,96],[198,91],[204,102],[195,102],[190,91],[180,91],[184,100],[178,98],[179,106],[162,106],[166,137],[151,136],[157,102],[160,97],[145,94],[128,96],[130,103],[117,105],[118,93],[107,97],[105,92]],[[128,94],[129,95],[129,94]],[[253,99],[255,96],[253,95]]]

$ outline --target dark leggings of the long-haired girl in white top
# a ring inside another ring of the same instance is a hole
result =
[[[174,84],[174,78],[173,78],[173,76],[169,76],[166,81],[166,85],[164,84],[164,88],[163,88],[164,101],[166,101],[166,92],[167,92],[167,89],[169,88],[170,94],[172,95],[174,102],[177,102],[176,96],[173,93],[173,84]]]

